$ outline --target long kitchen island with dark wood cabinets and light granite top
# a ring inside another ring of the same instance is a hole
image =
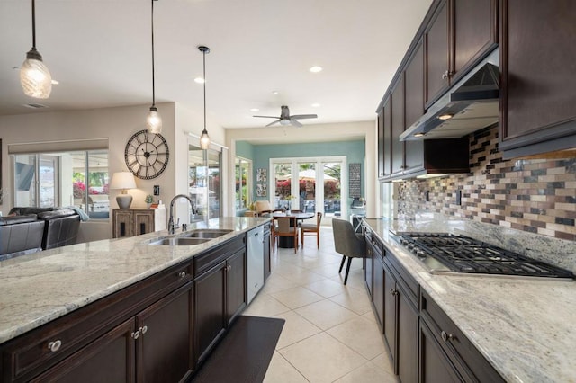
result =
[[[158,345],[152,343],[160,332],[153,329],[165,318],[171,323],[157,341],[166,346],[174,336],[186,355],[180,367],[190,376],[246,307],[246,233],[269,221],[214,218],[195,223],[188,232],[229,231],[198,245],[152,245],[168,235],[161,231],[1,262],[2,381],[74,376],[74,369],[105,357],[109,352],[102,351],[114,344],[126,357],[117,369],[122,380],[140,380],[148,372],[157,377],[162,369],[148,371],[153,353],[147,343]],[[190,339],[182,343],[184,332]],[[176,361],[163,361],[165,366],[168,362]]]

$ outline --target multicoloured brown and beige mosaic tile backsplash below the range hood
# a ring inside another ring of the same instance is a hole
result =
[[[576,158],[503,160],[498,128],[470,138],[469,174],[399,183],[399,214],[425,209],[448,216],[576,239]],[[456,204],[456,192],[462,204]],[[428,200],[427,200],[428,196]]]

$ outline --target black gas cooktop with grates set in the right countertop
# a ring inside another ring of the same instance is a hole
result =
[[[432,273],[491,274],[572,280],[572,272],[468,236],[445,233],[395,233]]]

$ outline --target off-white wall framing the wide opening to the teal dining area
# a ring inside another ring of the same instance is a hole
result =
[[[344,122],[335,124],[314,124],[306,125],[303,128],[294,127],[269,127],[252,129],[226,129],[226,146],[229,147],[229,158],[227,166],[234,169],[234,158],[236,156],[236,141],[247,140],[250,142],[262,143],[280,142],[319,142],[336,141],[346,139],[365,138],[365,199],[374,201],[366,206],[368,217],[376,217],[376,211],[380,205],[380,196],[377,192],[377,129],[374,121],[364,122]],[[226,189],[233,191],[235,185],[234,172],[229,173],[226,178]],[[234,211],[234,193],[230,193],[226,199],[226,206],[231,213]]]

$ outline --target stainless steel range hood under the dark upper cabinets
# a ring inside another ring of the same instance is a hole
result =
[[[498,49],[435,102],[400,140],[461,138],[499,118]]]

